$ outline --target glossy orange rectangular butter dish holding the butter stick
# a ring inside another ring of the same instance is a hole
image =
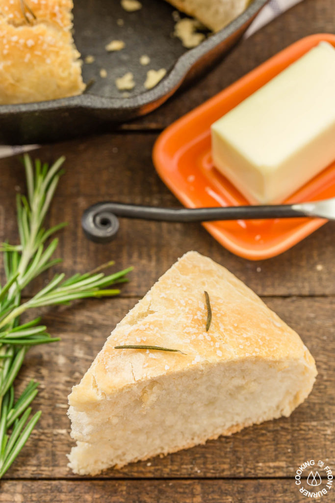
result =
[[[177,120],[160,135],[153,151],[157,172],[186,207],[249,204],[235,186],[213,166],[210,127],[323,41],[335,47],[335,35],[330,34],[311,35],[295,42]],[[316,201],[333,196],[335,163],[324,166],[323,171],[284,203]],[[326,220],[319,218],[293,218],[219,221],[203,225],[233,253],[250,260],[259,260],[282,253],[325,222]]]

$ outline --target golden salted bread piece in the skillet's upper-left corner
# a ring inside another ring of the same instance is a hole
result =
[[[0,104],[28,103],[80,94],[85,89],[71,34],[70,0],[0,3]]]

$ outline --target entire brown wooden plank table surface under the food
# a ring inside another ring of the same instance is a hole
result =
[[[294,483],[298,466],[307,459],[322,459],[335,468],[335,223],[326,224],[285,254],[264,262],[232,255],[198,224],[124,220],[117,240],[109,245],[87,241],[80,228],[82,211],[99,200],[178,205],[151,161],[158,133],[291,42],[311,33],[334,32],[334,17],[333,0],[304,0],[243,41],[192,89],[178,93],[151,115],[110,134],[40,149],[42,160],[52,161],[61,154],[67,157],[66,174],[48,222],[69,222],[59,234],[58,255],[64,262],[57,271],[85,272],[110,259],[116,261],[116,270],[130,265],[135,269],[120,297],[45,312],[49,331],[62,340],[33,349],[26,357],[19,379],[41,382],[34,407],[43,413],[2,481],[0,501],[303,502],[307,499]],[[25,189],[23,170],[15,157],[1,160],[0,165],[0,241],[16,242],[15,192]],[[311,395],[288,418],[162,459],[109,470],[99,477],[74,476],[66,466],[66,453],[72,445],[66,416],[71,386],[79,381],[115,324],[191,249],[230,269],[298,331],[319,372]],[[26,292],[27,296],[32,293]],[[334,498],[335,489],[324,496],[327,503]]]

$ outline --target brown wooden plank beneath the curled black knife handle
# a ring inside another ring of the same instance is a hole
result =
[[[117,268],[135,267],[123,294],[142,296],[178,257],[195,249],[225,265],[260,295],[335,293],[334,222],[283,255],[258,262],[231,254],[200,224],[122,219],[115,241],[106,245],[89,242],[81,230],[80,218],[86,207],[98,201],[180,206],[153,168],[151,150],[155,139],[151,133],[113,134],[45,146],[36,152],[47,161],[62,154],[67,157],[66,174],[47,221],[49,225],[69,222],[67,229],[59,233],[58,256],[64,263],[57,271],[84,272],[114,259]],[[0,242],[17,242],[15,193],[24,190],[24,173],[14,157],[2,159],[0,170]],[[49,273],[49,278],[53,274]]]

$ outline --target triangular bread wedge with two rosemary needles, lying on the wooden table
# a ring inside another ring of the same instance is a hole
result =
[[[315,376],[298,334],[227,269],[190,251],[117,325],[72,388],[77,446],[69,467],[96,474],[288,416]]]

